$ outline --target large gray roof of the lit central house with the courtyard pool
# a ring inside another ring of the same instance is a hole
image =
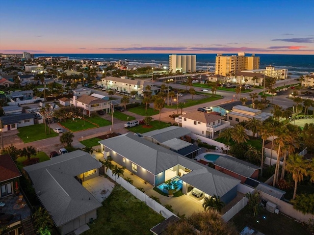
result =
[[[209,195],[223,196],[241,182],[151,141],[138,138],[131,133],[101,140],[99,143],[154,175],[180,164],[191,170],[181,179]]]

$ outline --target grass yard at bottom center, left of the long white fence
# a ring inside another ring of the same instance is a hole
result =
[[[144,202],[116,186],[103,207],[97,209],[97,219],[88,224],[90,229],[82,235],[151,235],[150,229],[163,220]]]

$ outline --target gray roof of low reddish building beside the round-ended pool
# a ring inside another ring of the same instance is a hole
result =
[[[218,157],[213,164],[244,177],[251,177],[256,170],[261,169],[259,166],[227,155]]]

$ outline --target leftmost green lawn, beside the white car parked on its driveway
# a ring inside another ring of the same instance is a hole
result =
[[[36,124],[28,127],[20,127],[18,128],[18,136],[23,140],[24,143],[29,143],[41,139],[47,139],[50,137],[58,136],[59,134],[55,133],[51,129],[51,133],[49,134],[49,126],[46,126],[47,134],[45,133],[44,124]]]

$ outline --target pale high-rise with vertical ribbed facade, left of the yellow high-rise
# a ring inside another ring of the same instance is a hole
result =
[[[169,73],[182,73],[196,72],[196,55],[169,55]]]

